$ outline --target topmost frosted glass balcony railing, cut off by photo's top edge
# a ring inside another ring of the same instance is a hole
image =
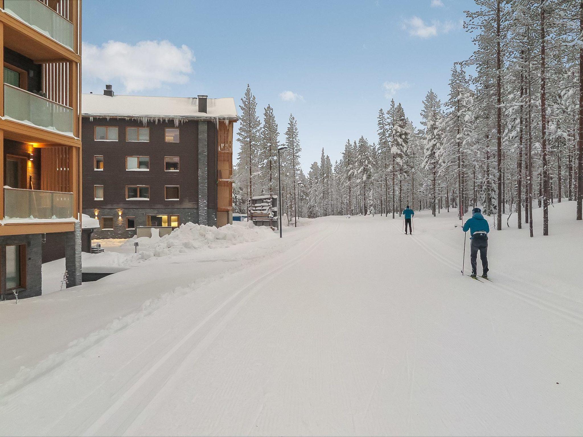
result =
[[[73,23],[38,0],[4,0],[4,9],[73,50]]]

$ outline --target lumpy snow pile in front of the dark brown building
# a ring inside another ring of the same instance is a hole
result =
[[[199,249],[226,248],[274,236],[275,234],[271,228],[256,227],[251,222],[244,225],[227,224],[220,228],[186,223],[169,235],[160,237],[158,234],[153,233],[151,238],[134,237],[125,242],[124,245],[134,246],[137,241],[139,246],[138,254],[142,259],[150,259]]]

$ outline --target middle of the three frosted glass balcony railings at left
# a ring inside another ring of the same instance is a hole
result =
[[[4,115],[51,131],[73,132],[72,108],[8,83],[4,84]]]

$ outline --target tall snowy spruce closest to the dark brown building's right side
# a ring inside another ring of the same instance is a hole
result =
[[[237,156],[236,183],[245,193],[242,202],[247,204],[255,193],[253,182],[257,177],[257,152],[261,143],[261,122],[257,117],[257,100],[251,93],[251,87],[247,84],[245,95],[241,98],[241,115],[237,141],[241,149]]]

